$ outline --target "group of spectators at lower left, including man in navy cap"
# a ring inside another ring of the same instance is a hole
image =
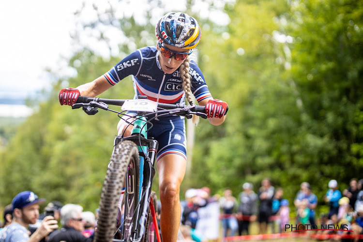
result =
[[[91,242],[97,210],[83,211],[78,204],[48,203],[43,213],[39,198],[31,191],[16,195],[4,208],[0,242]],[[60,224],[61,226],[59,227]]]

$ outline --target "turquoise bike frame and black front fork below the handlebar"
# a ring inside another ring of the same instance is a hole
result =
[[[136,210],[134,212],[133,217],[137,218],[137,223],[139,226],[136,226],[136,230],[131,232],[132,236],[134,236],[134,241],[140,241],[142,235],[147,232],[145,231],[145,223],[148,215],[148,208],[151,207],[152,221],[155,228],[155,233],[158,238],[158,242],[161,242],[159,228],[157,227],[156,215],[154,214],[154,204],[150,199],[151,196],[151,185],[152,180],[155,175],[155,156],[158,148],[158,142],[155,139],[148,139],[147,134],[147,119],[142,116],[143,113],[138,112],[135,121],[133,121],[134,127],[132,129],[132,135],[128,137],[117,136],[114,141],[114,146],[120,143],[122,140],[131,140],[136,143],[137,148],[139,150],[139,191],[138,205],[136,206]],[[145,154],[149,157],[146,159]],[[150,162],[148,162],[148,160]],[[131,189],[131,190],[129,190]],[[126,187],[125,193],[133,193],[135,191],[132,188]],[[144,196],[147,196],[147,199],[143,199]],[[131,204],[130,204],[131,205]],[[128,205],[128,206],[130,206]],[[126,218],[124,218],[124,223]],[[123,240],[113,240],[114,242],[121,242]]]

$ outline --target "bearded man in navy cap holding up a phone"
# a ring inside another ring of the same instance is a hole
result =
[[[28,233],[29,224],[37,222],[39,203],[45,198],[38,198],[33,192],[25,191],[13,199],[13,222],[2,230],[0,242],[39,242],[54,229],[58,228],[57,220],[46,216],[41,226],[31,235]]]

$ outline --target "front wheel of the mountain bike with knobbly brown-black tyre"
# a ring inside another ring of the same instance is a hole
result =
[[[108,166],[105,181],[102,188],[99,218],[94,235],[94,242],[112,242],[116,227],[116,219],[119,213],[118,202],[121,189],[126,186],[125,198],[133,200],[126,202],[135,205],[138,201],[138,177],[139,177],[139,153],[134,142],[124,140],[116,145],[111,162]],[[126,185],[125,185],[126,180]],[[125,211],[134,212],[134,207],[125,208]],[[133,214],[126,214],[125,217],[131,218]],[[124,218],[125,219],[125,218]],[[127,231],[130,223],[124,221],[123,228]],[[124,233],[124,236],[130,235]],[[124,237],[125,238],[125,237]],[[126,238],[125,238],[126,239]]]

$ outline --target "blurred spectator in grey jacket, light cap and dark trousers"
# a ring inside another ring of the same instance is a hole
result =
[[[238,234],[242,235],[245,231],[249,234],[250,222],[257,219],[257,194],[253,191],[253,185],[250,182],[243,183],[243,192],[239,195],[240,206],[238,207]]]

